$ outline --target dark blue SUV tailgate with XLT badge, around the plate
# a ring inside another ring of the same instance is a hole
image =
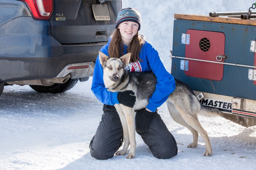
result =
[[[107,41],[113,31],[121,1],[108,0],[110,20],[96,20],[92,5],[97,0],[54,0],[50,18],[51,34],[60,44],[94,43]]]

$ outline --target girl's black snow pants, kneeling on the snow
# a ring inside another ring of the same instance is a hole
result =
[[[137,111],[136,115],[143,111]],[[89,145],[91,156],[99,160],[112,158],[123,143],[123,128],[115,107],[104,105],[103,113]],[[136,132],[156,158],[169,159],[177,155],[177,143],[158,113],[153,114],[147,132]]]

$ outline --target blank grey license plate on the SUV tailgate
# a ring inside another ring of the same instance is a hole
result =
[[[107,5],[91,5],[93,8],[93,15],[95,20],[110,20],[109,10]]]

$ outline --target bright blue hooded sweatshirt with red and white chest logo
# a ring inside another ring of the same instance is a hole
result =
[[[107,49],[109,47],[110,41],[111,38],[109,39],[108,43],[104,45],[100,50],[107,56],[109,56]],[[126,49],[127,46],[125,46],[124,54],[126,54]],[[153,71],[155,77],[157,78],[157,84],[155,92],[149,98],[149,104],[146,108],[152,112],[155,112],[156,109],[161,106],[167,100],[168,96],[175,90],[175,80],[174,77],[166,71],[163,63],[159,58],[157,50],[150,42],[146,41],[145,44],[142,45],[139,57],[141,60],[143,60],[142,62],[129,63],[129,65],[126,66],[126,69],[140,72]],[[104,85],[103,68],[99,62],[99,56],[94,67],[91,91],[103,104],[120,104],[117,100],[118,92],[109,92]]]

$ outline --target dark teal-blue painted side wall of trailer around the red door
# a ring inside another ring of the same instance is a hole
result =
[[[185,44],[181,43],[181,36],[188,29],[224,33],[227,55],[224,62],[254,65],[254,52],[250,51],[250,45],[256,39],[255,26],[176,19],[173,28],[173,56],[185,57]],[[248,79],[249,69],[253,68],[224,65],[223,79],[215,81],[186,76],[184,70],[180,70],[180,60],[184,59],[172,59],[171,73],[175,78],[189,84],[193,90],[256,100],[256,86]]]

